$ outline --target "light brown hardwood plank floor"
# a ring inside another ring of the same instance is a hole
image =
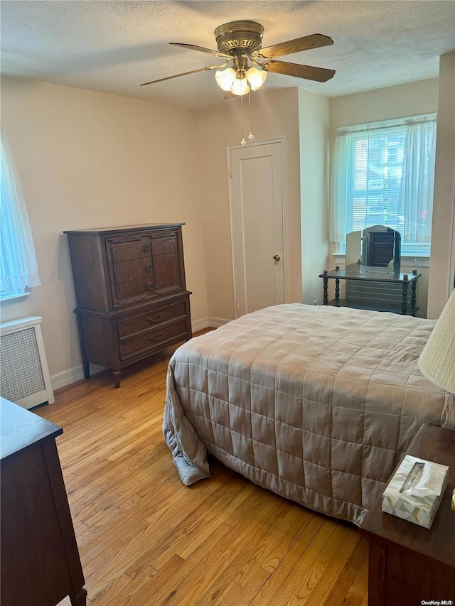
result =
[[[119,389],[100,375],[35,410],[64,429],[87,604],[365,606],[368,551],[354,526],[215,460],[209,480],[181,484],[161,435],[166,366],[127,369]]]

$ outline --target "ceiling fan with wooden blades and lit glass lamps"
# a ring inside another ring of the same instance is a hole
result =
[[[243,95],[250,92],[250,89],[257,90],[261,87],[267,77],[267,72],[304,78],[305,80],[315,80],[316,82],[326,82],[335,74],[335,70],[327,70],[323,67],[311,67],[310,65],[287,63],[274,59],[274,57],[281,57],[282,55],[300,53],[302,50],[331,45],[333,40],[329,36],[314,33],[311,36],[287,40],[287,42],[262,48],[263,33],[264,28],[255,21],[232,21],[215,29],[218,50],[211,50],[194,44],[170,42],[169,44],[173,46],[215,55],[215,57],[224,59],[225,62],[221,65],[208,65],[207,67],[200,67],[198,70],[191,70],[191,72],[183,72],[183,74],[144,82],[141,86],[156,84],[156,82],[164,82],[164,80],[206,70],[218,70],[215,73],[215,80],[218,85],[228,94],[231,92]],[[231,62],[232,67],[223,70],[223,67],[227,67]]]

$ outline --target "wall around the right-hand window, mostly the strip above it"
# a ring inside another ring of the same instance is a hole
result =
[[[347,94],[330,99],[330,148],[336,139],[336,129],[353,124],[366,124],[380,120],[390,120],[419,114],[430,114],[438,111],[439,80],[419,80],[407,84]],[[327,232],[328,233],[328,232]],[[333,247],[331,247],[333,252]],[[330,268],[336,261],[333,259]],[[428,259],[402,259],[402,271],[417,267],[422,278],[419,278],[419,315],[427,315],[428,297]]]

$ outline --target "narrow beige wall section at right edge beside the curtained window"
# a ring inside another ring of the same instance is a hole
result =
[[[428,316],[439,318],[454,288],[455,50],[439,58],[439,104]]]

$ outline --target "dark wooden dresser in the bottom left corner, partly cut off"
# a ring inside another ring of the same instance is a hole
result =
[[[55,437],[63,430],[4,398],[1,413],[1,604],[55,606],[87,591]]]

